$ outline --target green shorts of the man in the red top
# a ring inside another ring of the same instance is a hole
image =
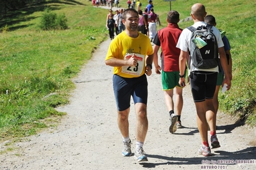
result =
[[[178,84],[180,81],[180,72],[164,72],[162,71],[162,86],[164,90],[174,89],[176,86],[181,87]],[[186,75],[186,70],[185,70]]]

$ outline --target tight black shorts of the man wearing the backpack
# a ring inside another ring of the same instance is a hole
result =
[[[218,72],[191,72],[189,77],[194,102],[203,102],[214,97]]]

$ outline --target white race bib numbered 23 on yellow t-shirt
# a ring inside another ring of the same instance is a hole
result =
[[[133,54],[126,54],[124,59],[130,59]],[[135,59],[137,59],[138,63],[136,66],[122,66],[122,73],[128,73],[131,75],[141,75],[144,68],[145,56],[141,54],[135,53]]]

